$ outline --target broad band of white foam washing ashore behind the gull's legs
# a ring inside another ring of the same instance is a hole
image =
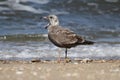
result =
[[[1,42],[0,59],[9,58],[43,58],[58,57],[58,49],[49,43],[27,42],[12,43]],[[120,58],[120,44],[95,44],[77,46],[68,50],[69,57],[85,57],[85,58]],[[64,50],[61,51],[61,57],[64,57]]]

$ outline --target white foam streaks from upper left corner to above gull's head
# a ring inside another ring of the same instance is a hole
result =
[[[0,2],[0,5],[7,5],[8,8],[1,8],[1,10],[18,10],[18,11],[27,11],[31,13],[41,14],[41,13],[50,13],[50,14],[69,14],[67,11],[51,9],[50,11],[43,10],[41,8],[34,8],[29,5],[23,5],[20,2],[34,2],[38,4],[47,4],[49,0],[8,0]]]

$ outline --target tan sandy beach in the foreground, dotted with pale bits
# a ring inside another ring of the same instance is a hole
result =
[[[120,60],[1,60],[0,80],[120,80]]]

